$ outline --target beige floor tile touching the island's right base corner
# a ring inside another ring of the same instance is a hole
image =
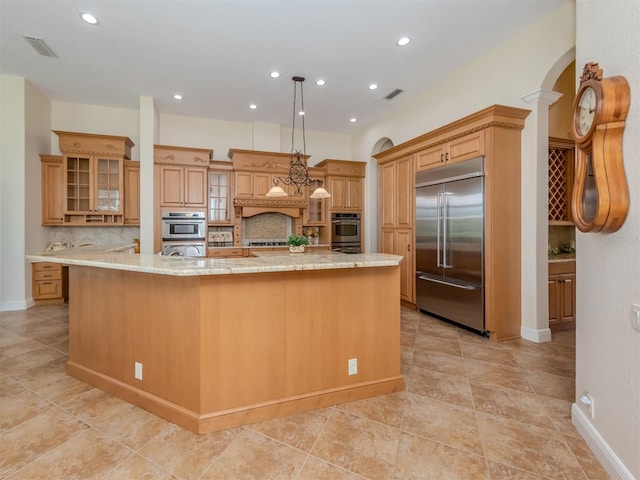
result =
[[[471,389],[466,378],[412,367],[409,392],[424,397],[473,408]]]

